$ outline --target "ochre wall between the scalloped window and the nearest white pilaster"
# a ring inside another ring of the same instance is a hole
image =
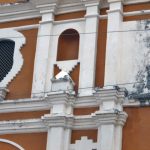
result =
[[[18,75],[10,82],[6,99],[29,98],[31,96],[37,29],[21,31],[26,44],[21,48],[24,64]]]

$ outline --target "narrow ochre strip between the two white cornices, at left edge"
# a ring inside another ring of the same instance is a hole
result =
[[[36,119],[36,118],[41,118],[42,116],[44,116],[44,114],[49,114],[49,113],[50,113],[50,110],[1,113],[0,121],[33,119],[33,118]]]

